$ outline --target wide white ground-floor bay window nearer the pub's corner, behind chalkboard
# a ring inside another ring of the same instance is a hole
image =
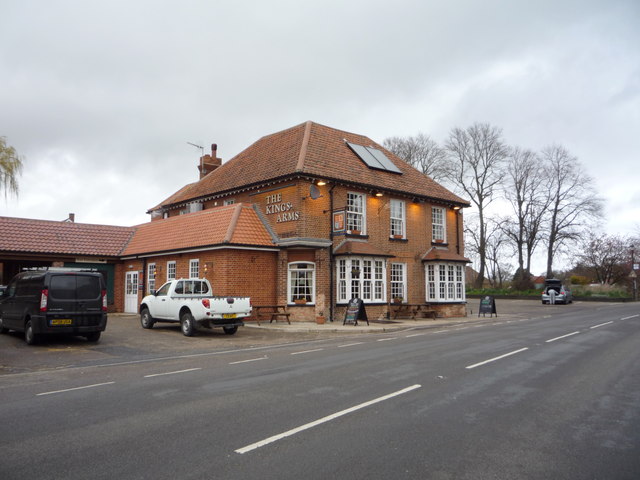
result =
[[[336,264],[338,303],[361,298],[365,303],[386,301],[386,262],[374,257],[344,257]]]

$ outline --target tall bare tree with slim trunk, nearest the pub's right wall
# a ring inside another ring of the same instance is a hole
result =
[[[477,251],[480,268],[475,287],[481,288],[487,264],[486,208],[500,188],[508,149],[502,130],[476,123],[466,130],[454,128],[446,142],[447,178],[478,210]]]

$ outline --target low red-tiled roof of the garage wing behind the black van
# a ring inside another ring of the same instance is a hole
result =
[[[0,251],[115,257],[135,228],[0,217]]]

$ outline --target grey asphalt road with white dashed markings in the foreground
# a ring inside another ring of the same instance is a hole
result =
[[[91,354],[3,338],[56,361],[3,357],[0,478],[640,478],[637,304],[276,334]]]

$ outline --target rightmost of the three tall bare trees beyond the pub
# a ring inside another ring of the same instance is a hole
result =
[[[541,155],[549,174],[546,243],[547,277],[551,277],[556,252],[580,238],[587,220],[602,217],[602,200],[596,196],[593,179],[564,147],[546,147]]]

